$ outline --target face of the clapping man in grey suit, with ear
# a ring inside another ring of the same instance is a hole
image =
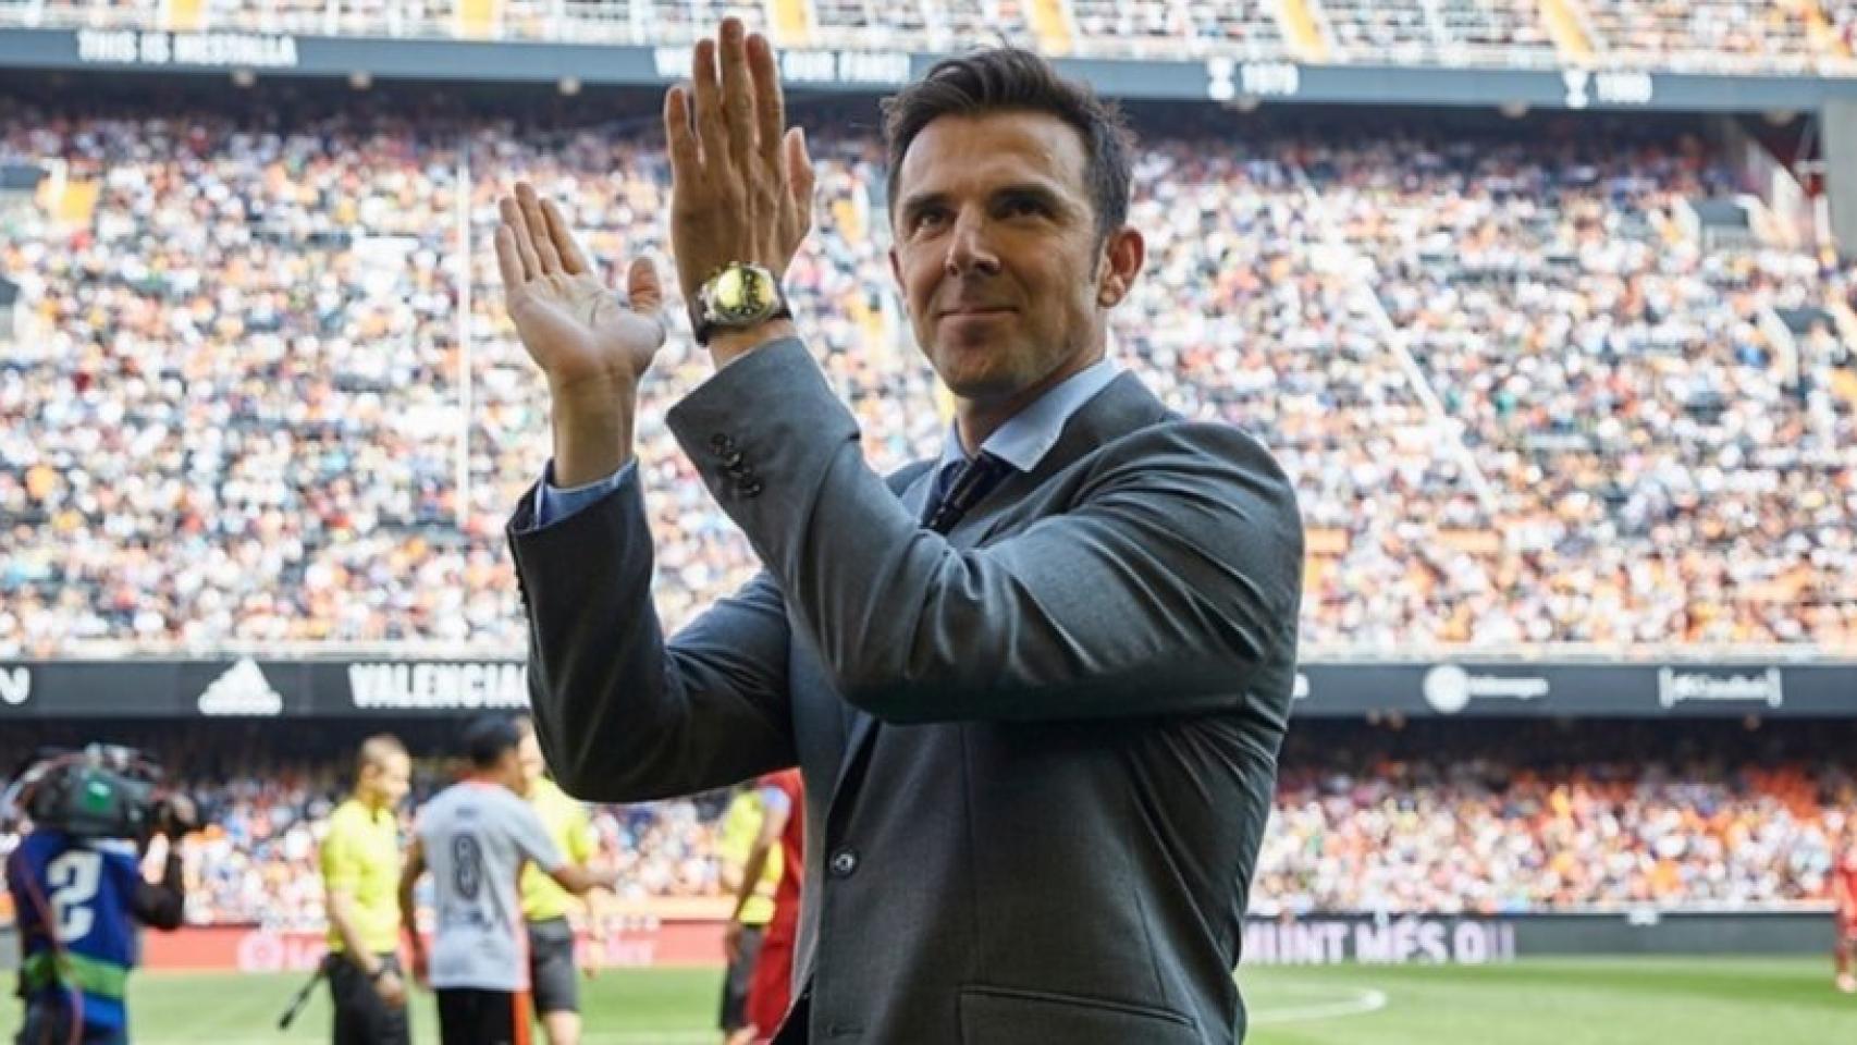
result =
[[[1084,139],[1047,113],[938,117],[897,173],[890,262],[936,373],[1006,403],[1096,362],[1133,271],[1099,264]],[[1112,243],[1140,238],[1133,230]],[[1120,267],[1127,267],[1122,258]]]

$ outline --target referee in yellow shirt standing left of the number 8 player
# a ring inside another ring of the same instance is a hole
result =
[[[360,746],[355,793],[329,817],[319,861],[336,1045],[409,1045],[399,969],[399,802],[412,763],[397,737]]]

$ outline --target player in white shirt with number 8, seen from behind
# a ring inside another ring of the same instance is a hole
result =
[[[516,884],[535,863],[563,889],[611,887],[617,872],[566,863],[524,802],[511,718],[479,718],[464,731],[470,774],[420,809],[399,878],[399,917],[412,937],[412,971],[438,993],[444,1045],[529,1043],[529,937]],[[433,952],[414,924],[412,889],[433,872]]]

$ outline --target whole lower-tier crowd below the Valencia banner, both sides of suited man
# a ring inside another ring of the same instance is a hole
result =
[[[1324,746],[1328,742],[1324,741]],[[403,819],[448,778],[420,763]],[[195,924],[321,928],[316,846],[342,796],[334,763],[195,778],[182,846]],[[726,794],[594,807],[626,900],[724,895]],[[1252,889],[1253,913],[1482,911],[1822,900],[1857,778],[1837,759],[1538,763],[1292,754]],[[1853,824],[1857,826],[1857,824]],[[0,858],[17,835],[0,833]]]

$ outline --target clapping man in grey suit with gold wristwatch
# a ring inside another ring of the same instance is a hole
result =
[[[717,364],[667,423],[765,566],[669,642],[631,462],[657,277],[633,262],[620,304],[553,204],[503,200],[509,310],[553,397],[511,522],[548,761],[605,802],[802,768],[780,1043],[1242,1039],[1302,527],[1257,442],[1105,360],[1144,256],[1120,119],[1018,50],[886,104],[893,271],[956,401],[941,458],[890,477],[778,295],[812,202],[784,121],[734,20],[665,102]]]

